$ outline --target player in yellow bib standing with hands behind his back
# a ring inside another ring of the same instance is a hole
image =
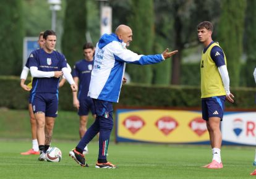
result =
[[[211,39],[212,33],[211,22],[204,21],[197,25],[198,40],[205,47],[200,64],[202,117],[207,122],[213,152],[212,162],[203,167],[220,169],[223,168],[220,154],[222,141],[220,122],[223,119],[225,100],[234,102],[234,96],[229,91],[226,56],[220,45]]]

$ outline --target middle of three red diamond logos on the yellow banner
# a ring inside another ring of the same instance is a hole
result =
[[[156,127],[161,130],[164,135],[168,136],[171,131],[175,130],[179,125],[177,121],[169,116],[158,119],[155,123]]]

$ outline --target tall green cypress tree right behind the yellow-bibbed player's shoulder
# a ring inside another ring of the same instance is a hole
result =
[[[239,86],[245,7],[245,0],[221,1],[218,40],[227,58],[232,86]]]

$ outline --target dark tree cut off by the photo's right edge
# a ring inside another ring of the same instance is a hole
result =
[[[256,1],[247,0],[246,21],[245,21],[245,50],[247,52],[247,63],[245,65],[245,81],[247,86],[255,86],[252,73],[256,64]]]

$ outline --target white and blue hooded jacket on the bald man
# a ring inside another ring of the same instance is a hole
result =
[[[109,102],[118,102],[122,78],[129,64],[156,64],[164,60],[162,54],[138,55],[119,40],[114,33],[103,35],[96,45],[88,96]]]

